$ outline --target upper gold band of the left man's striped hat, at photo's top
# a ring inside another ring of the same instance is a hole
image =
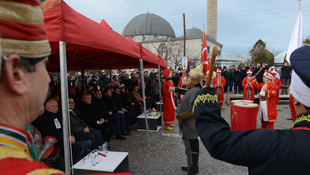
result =
[[[40,6],[14,1],[0,1],[0,18],[25,24],[43,23],[43,14]]]

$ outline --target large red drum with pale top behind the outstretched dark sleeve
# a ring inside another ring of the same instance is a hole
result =
[[[235,103],[230,115],[231,130],[256,129],[257,113],[255,103]]]

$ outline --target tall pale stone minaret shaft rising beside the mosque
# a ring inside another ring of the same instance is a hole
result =
[[[207,35],[217,40],[217,0],[207,1]]]

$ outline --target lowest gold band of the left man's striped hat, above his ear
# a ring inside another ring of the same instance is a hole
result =
[[[51,54],[48,40],[24,41],[1,39],[3,55],[17,54],[27,58],[42,58]]]

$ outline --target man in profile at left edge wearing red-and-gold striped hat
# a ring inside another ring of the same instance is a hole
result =
[[[44,112],[50,46],[39,0],[0,1],[1,174],[62,174],[33,161],[26,126]]]

